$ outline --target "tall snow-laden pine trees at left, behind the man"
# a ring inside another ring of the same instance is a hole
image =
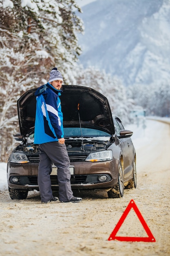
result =
[[[0,0],[0,161],[19,131],[17,99],[44,83],[54,66],[69,83],[81,53],[77,9],[74,0]]]

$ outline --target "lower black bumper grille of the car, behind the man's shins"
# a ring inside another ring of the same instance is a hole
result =
[[[71,184],[81,184],[86,181],[87,175],[74,175],[71,176]],[[38,185],[38,177],[37,176],[30,176],[28,177],[30,185]],[[51,185],[58,185],[57,175],[51,176]]]

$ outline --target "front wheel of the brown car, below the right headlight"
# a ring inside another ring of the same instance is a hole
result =
[[[121,162],[119,162],[119,178],[118,182],[112,189],[108,191],[108,198],[121,198],[124,195],[124,173]]]

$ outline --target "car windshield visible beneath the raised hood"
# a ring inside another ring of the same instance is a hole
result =
[[[101,130],[91,129],[91,128],[64,128],[64,137],[110,137],[110,134]]]

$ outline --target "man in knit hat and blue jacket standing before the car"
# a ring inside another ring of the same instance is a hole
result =
[[[81,202],[82,198],[73,196],[71,190],[70,160],[66,150],[63,133],[61,95],[63,77],[53,68],[49,82],[35,92],[37,96],[34,143],[39,144],[40,163],[38,167],[38,186],[42,203],[57,201],[51,190],[50,173],[52,164],[57,166],[60,202]]]

